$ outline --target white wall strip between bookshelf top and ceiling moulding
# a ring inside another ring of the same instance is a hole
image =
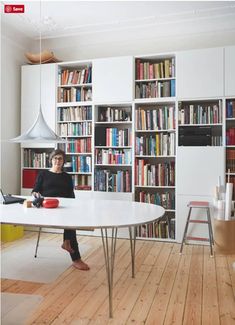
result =
[[[139,35],[115,34],[115,32],[84,34],[79,36],[47,39],[45,49],[54,51],[61,61],[76,61],[102,57],[155,54],[196,48],[223,47],[235,44],[235,31],[204,32],[196,34],[154,37],[147,32]],[[38,51],[38,45],[35,46]]]

